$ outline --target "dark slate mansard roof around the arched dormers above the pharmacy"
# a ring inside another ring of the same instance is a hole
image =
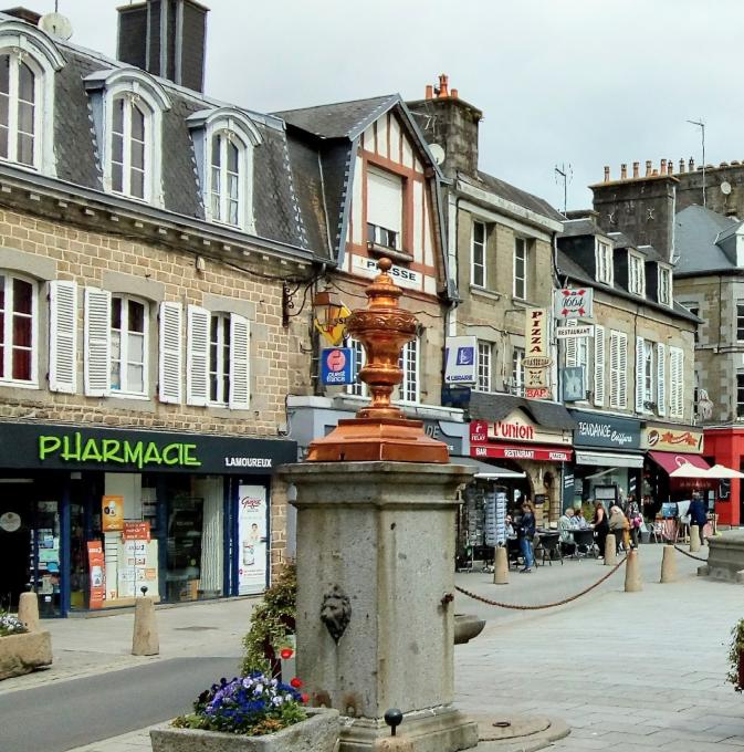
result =
[[[0,12],[0,22],[18,19]],[[132,67],[71,42],[53,40],[65,60],[54,76],[54,153],[56,176],[84,188],[103,190],[101,145],[97,144],[93,109],[84,79],[93,73]],[[149,75],[149,74],[148,74]],[[226,106],[208,95],[151,76],[167,92],[171,107],[163,114],[161,158],[165,209],[176,215],[203,219],[205,207],[197,171],[193,140],[186,118],[199,111]],[[317,232],[305,228],[303,209],[294,191],[283,123],[244,107],[240,109],[258,128],[262,143],[253,152],[253,216],[256,236],[297,250],[315,250],[325,244]],[[136,206],[137,201],[133,201]],[[303,201],[305,210],[308,201]],[[315,221],[315,218],[312,219]],[[219,226],[213,226],[219,228]],[[237,229],[237,228],[235,228]],[[248,237],[248,236],[247,236]],[[313,239],[311,246],[310,238]]]

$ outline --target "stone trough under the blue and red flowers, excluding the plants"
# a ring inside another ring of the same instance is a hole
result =
[[[338,729],[337,710],[308,708],[306,720],[268,737],[161,725],[150,730],[150,743],[153,752],[334,752]]]

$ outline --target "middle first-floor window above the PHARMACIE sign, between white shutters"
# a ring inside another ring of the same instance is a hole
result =
[[[112,297],[111,388],[147,393],[147,304],[125,295]]]

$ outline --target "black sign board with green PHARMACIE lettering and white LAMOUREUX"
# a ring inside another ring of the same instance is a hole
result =
[[[297,459],[294,441],[137,431],[117,428],[0,424],[6,468],[270,474]]]

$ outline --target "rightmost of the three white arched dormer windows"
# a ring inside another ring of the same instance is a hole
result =
[[[259,129],[230,107],[195,113],[188,122],[207,219],[253,232],[253,147],[261,144]]]

